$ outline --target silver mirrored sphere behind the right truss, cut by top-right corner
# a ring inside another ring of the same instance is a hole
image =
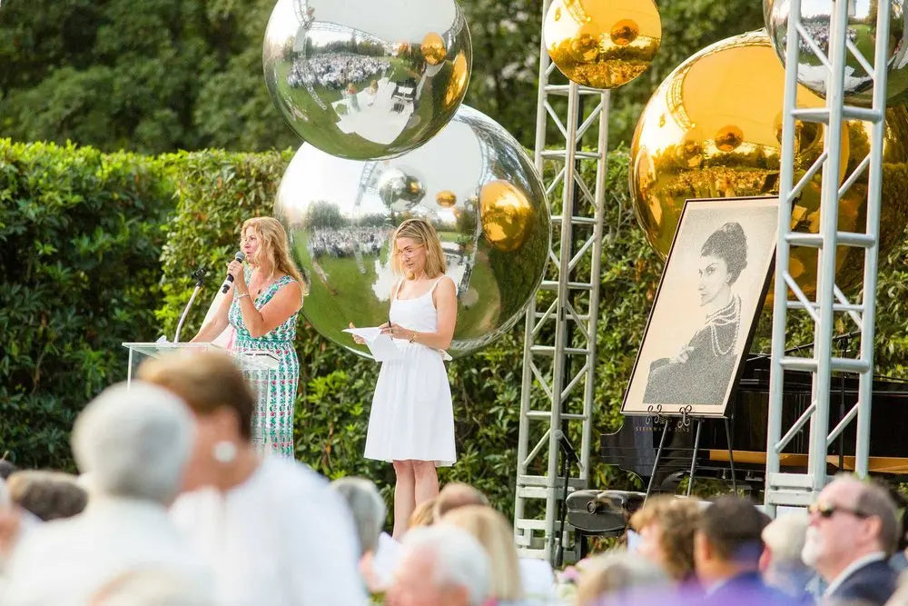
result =
[[[876,45],[876,7],[879,0],[849,0],[848,38],[860,49],[864,58],[873,65],[873,48]],[[908,89],[908,36],[905,32],[903,0],[889,0],[889,75],[886,97],[890,100]],[[775,52],[785,65],[785,36],[788,33],[789,0],[764,0],[763,15]],[[833,0],[801,0],[801,23],[829,55],[829,25],[833,13]],[[819,94],[826,95],[829,70],[802,39],[798,47],[798,82]],[[869,89],[873,79],[851,53],[845,65],[845,99],[848,103],[870,106],[873,99]],[[905,99],[902,99],[904,101]]]

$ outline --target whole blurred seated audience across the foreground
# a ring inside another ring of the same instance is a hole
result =
[[[146,362],[74,424],[79,475],[0,461],[0,603],[908,604],[893,492],[838,476],[808,511],[651,497],[620,547],[555,572],[450,482],[395,541],[367,479],[328,482],[250,442],[255,399],[219,353]]]

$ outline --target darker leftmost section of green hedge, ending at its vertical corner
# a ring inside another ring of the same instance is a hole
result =
[[[0,139],[0,455],[72,466],[75,413],[153,326],[172,209],[160,159]]]

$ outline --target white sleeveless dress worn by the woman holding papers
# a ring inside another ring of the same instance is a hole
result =
[[[432,293],[415,299],[391,299],[390,321],[420,333],[438,330],[439,317]],[[448,278],[450,279],[450,278]],[[403,356],[381,363],[379,379],[372,396],[367,459],[379,461],[434,461],[436,466],[457,461],[454,447],[454,407],[448,372],[441,353],[406,339]]]

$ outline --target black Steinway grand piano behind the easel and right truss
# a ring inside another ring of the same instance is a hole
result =
[[[834,376],[830,393],[830,427],[834,427],[857,401],[857,378]],[[811,374],[785,372],[782,432],[795,424],[810,404]],[[754,356],[745,368],[728,405],[728,422],[704,419],[697,448],[696,477],[714,476],[731,479],[733,459],[737,482],[755,491],[764,484],[766,462],[766,422],[769,402],[769,359]],[[669,423],[665,446],[652,478],[653,491],[674,492],[676,483],[689,472],[694,456],[696,420],[678,426],[677,418]],[[827,457],[831,473],[854,469],[855,425],[852,422],[841,438],[829,448]],[[803,470],[807,463],[807,440],[810,423],[795,435],[781,457],[783,471]],[[908,382],[889,378],[873,381],[871,412],[870,471],[895,476],[908,476]],[[663,425],[654,425],[643,416],[626,416],[616,433],[600,439],[602,460],[634,472],[647,486],[651,480],[656,451],[662,438]],[[727,434],[727,437],[726,437]],[[731,444],[729,446],[729,440]],[[731,452],[731,455],[730,453]]]

